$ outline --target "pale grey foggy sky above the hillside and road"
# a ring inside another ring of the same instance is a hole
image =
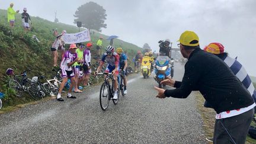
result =
[[[86,2],[73,1],[1,1],[0,8],[27,7],[28,14],[50,21],[54,12],[61,23],[73,24],[73,14]],[[256,76],[256,1],[255,0],[94,0],[106,9],[107,28],[103,34],[117,35],[121,40],[142,47],[148,43],[158,51],[158,41],[170,39],[173,47],[185,30],[195,31],[201,49],[209,43],[219,42],[231,57],[238,56],[249,75]],[[32,20],[33,21],[33,20]]]

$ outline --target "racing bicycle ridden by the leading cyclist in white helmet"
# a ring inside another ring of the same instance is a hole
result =
[[[98,73],[98,75],[105,75],[104,82],[100,89],[100,106],[103,111],[107,110],[111,98],[114,97],[114,76],[112,73]],[[111,81],[109,81],[111,79]],[[113,100],[114,105],[119,101],[120,89],[117,91],[117,99]],[[104,103],[105,102],[105,103]]]

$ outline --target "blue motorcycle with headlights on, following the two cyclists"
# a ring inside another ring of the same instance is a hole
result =
[[[161,81],[163,81],[165,78],[168,78],[171,76],[171,59],[168,56],[158,56],[156,58],[155,63],[155,80],[158,82],[159,88],[162,88],[165,85],[161,84]],[[172,73],[173,76],[173,73]]]

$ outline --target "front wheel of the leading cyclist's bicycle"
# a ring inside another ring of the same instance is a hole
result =
[[[100,106],[103,111],[107,110],[110,101],[110,89],[108,88],[107,82],[101,85],[100,89]]]

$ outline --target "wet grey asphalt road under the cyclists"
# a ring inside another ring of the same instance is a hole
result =
[[[100,85],[64,102],[42,101],[0,114],[0,143],[206,143],[193,94],[187,99],[155,98],[150,76],[129,76],[128,94],[107,111]],[[183,65],[175,64],[181,80]]]

